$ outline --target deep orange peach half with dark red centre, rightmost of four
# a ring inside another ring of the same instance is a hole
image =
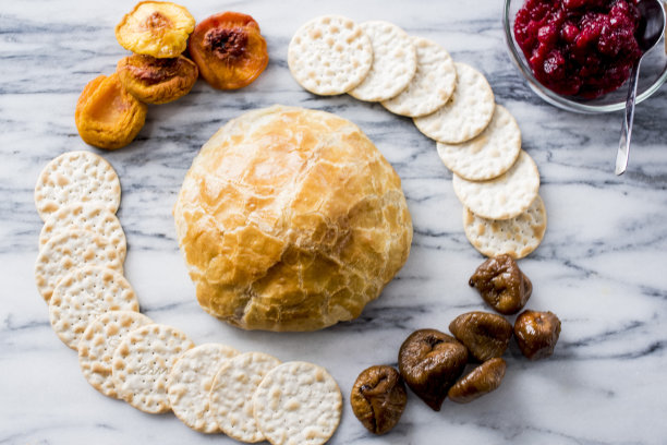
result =
[[[244,87],[268,64],[259,25],[240,12],[222,12],[198,23],[187,48],[202,77],[218,89]]]

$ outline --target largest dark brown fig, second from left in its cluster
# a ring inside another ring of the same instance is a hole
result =
[[[435,411],[440,410],[447,390],[459,378],[466,361],[465,347],[436,329],[415,330],[399,350],[401,376]]]

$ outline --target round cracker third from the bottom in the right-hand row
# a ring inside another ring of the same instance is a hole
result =
[[[521,130],[512,115],[497,105],[490,123],[478,136],[462,144],[438,142],[437,146],[447,168],[470,181],[485,181],[514,165],[521,152]]]

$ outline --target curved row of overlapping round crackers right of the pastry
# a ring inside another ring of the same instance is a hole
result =
[[[292,75],[318,95],[348,93],[412,118],[453,171],[470,242],[487,256],[520,258],[539,245],[546,211],[521,131],[485,76],[438,44],[380,21],[340,15],[301,26],[288,49]]]

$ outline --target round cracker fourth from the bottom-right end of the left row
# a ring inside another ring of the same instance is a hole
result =
[[[125,335],[113,351],[111,375],[120,398],[157,414],[170,409],[167,375],[194,344],[175,327],[149,324]]]

